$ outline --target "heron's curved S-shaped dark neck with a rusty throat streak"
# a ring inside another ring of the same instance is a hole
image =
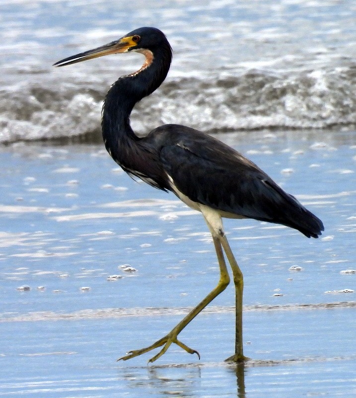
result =
[[[164,49],[163,49],[164,50]],[[119,78],[108,91],[102,110],[102,133],[105,147],[114,160],[128,167],[128,152],[139,141],[130,125],[135,104],[151,94],[164,81],[171,62],[170,51],[152,54],[145,50],[142,68]],[[169,49],[170,50],[170,49]]]

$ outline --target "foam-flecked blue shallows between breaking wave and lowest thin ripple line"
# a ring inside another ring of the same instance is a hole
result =
[[[325,133],[323,145],[316,145],[315,136],[299,142],[300,132],[260,142],[253,134],[230,135],[229,143],[233,137],[236,148],[251,152],[253,161],[325,224],[315,240],[278,225],[225,220],[245,275],[245,303],[344,300],[325,292],[356,287],[355,275],[340,273],[355,269],[353,134]],[[217,282],[214,247],[202,216],[176,197],[132,181],[101,145],[17,146],[1,156],[6,164],[1,198],[8,206],[0,215],[3,311],[42,311],[49,303],[61,311],[192,306]],[[123,264],[137,272],[122,272]],[[302,270],[289,270],[293,266]],[[124,278],[106,280],[116,274]],[[192,291],[197,281],[199,289]],[[17,292],[22,285],[32,290]],[[81,287],[91,291],[85,294]],[[63,290],[62,296],[53,290]],[[233,291],[216,304],[233,305]]]

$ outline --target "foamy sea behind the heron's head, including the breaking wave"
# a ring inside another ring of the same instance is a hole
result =
[[[0,142],[99,136],[110,84],[142,63],[59,59],[154,25],[174,49],[162,88],[137,107],[138,133],[162,123],[207,132],[352,126],[355,2],[7,1],[1,6]]]

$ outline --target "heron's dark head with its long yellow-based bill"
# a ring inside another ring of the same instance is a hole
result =
[[[166,36],[157,28],[142,27],[135,29],[119,40],[84,51],[71,57],[62,59],[54,64],[54,66],[66,66],[77,62],[86,61],[93,58],[102,57],[109,54],[119,54],[130,51],[141,52],[146,57],[146,62],[151,62],[156,49],[168,48],[170,45]]]

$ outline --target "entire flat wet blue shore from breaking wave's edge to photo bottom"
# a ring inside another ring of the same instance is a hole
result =
[[[325,224],[318,240],[225,228],[245,277],[244,369],[230,286],[153,365],[116,362],[174,326],[218,280],[200,214],[133,182],[102,145],[0,148],[0,395],[354,397],[356,135],[219,136]],[[111,277],[111,278],[110,278]]]

